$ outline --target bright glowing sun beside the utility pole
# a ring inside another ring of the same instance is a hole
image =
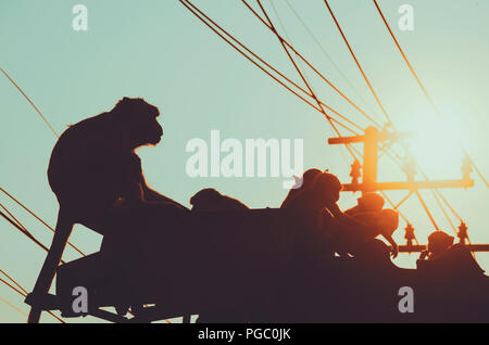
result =
[[[414,137],[409,152],[429,178],[461,178],[464,148],[471,140],[467,124],[448,116],[412,116],[403,129]]]

